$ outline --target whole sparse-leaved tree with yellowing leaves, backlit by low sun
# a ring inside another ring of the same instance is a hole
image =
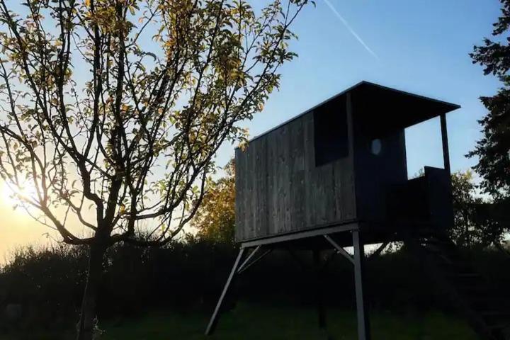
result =
[[[105,251],[166,244],[191,220],[215,152],[244,143],[239,123],[295,57],[308,2],[0,0],[0,174],[89,246],[78,339],[93,337]]]

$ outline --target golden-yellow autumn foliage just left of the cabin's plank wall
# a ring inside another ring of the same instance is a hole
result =
[[[223,168],[225,176],[211,181],[202,205],[191,221],[197,236],[215,243],[234,243],[235,166],[234,159]]]

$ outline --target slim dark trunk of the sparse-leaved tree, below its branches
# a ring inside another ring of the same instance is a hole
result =
[[[103,272],[103,256],[106,246],[92,244],[89,254],[89,271],[81,302],[81,315],[78,324],[77,340],[92,340],[94,337],[94,319],[96,319],[96,302]]]

